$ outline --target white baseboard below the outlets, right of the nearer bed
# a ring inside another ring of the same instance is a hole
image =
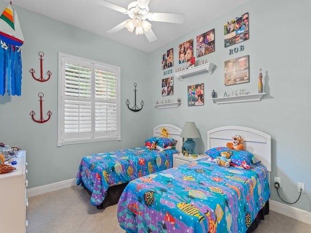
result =
[[[311,212],[285,205],[274,200],[270,200],[270,206],[272,211],[275,211],[282,215],[292,217],[308,224],[310,224],[311,222]]]

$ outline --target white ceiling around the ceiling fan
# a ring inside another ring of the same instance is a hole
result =
[[[10,2],[10,0],[5,1]],[[185,14],[183,24],[151,22],[152,30],[157,37],[154,42],[149,42],[145,35],[137,36],[135,30],[130,33],[126,28],[115,34],[106,33],[129,17],[121,12],[99,5],[96,1],[98,0],[12,0],[13,5],[146,52],[164,46],[249,0],[150,0],[150,12]],[[127,8],[133,0],[108,1]],[[21,21],[20,18],[19,20]]]

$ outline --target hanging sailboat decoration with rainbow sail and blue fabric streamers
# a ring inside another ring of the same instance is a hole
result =
[[[12,1],[0,16],[0,95],[7,91],[12,96],[21,95],[21,51],[24,43],[18,17]]]

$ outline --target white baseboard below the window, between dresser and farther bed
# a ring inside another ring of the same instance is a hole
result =
[[[30,197],[33,197],[39,194],[56,191],[62,188],[68,188],[74,185],[77,185],[75,178],[67,180],[67,181],[51,183],[51,184],[47,184],[47,185],[43,185],[43,186],[39,186],[35,188],[29,188],[27,189],[26,193],[27,193],[27,197],[30,198]]]

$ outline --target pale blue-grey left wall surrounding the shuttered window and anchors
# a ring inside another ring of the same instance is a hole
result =
[[[8,3],[0,1],[0,9]],[[0,96],[0,142],[27,151],[29,188],[75,178],[81,158],[103,151],[141,146],[150,127],[143,109],[134,113],[127,109],[125,101],[134,103],[134,83],[137,83],[137,99],[146,101],[149,90],[147,71],[148,54],[112,40],[88,33],[76,27],[15,6],[25,42],[22,45],[22,94]],[[2,11],[1,11],[2,12]],[[35,81],[29,70],[40,76],[38,52],[44,52],[43,74],[48,70],[52,77],[48,82]],[[86,143],[57,147],[57,88],[58,52],[84,57],[121,67],[121,141]],[[139,61],[139,65],[137,63]],[[30,112],[40,116],[38,93],[44,93],[43,115],[50,110],[51,119],[43,124],[34,122]],[[148,101],[146,101],[148,102]],[[148,124],[147,124],[148,123]],[[149,136],[149,135],[148,135]]]

